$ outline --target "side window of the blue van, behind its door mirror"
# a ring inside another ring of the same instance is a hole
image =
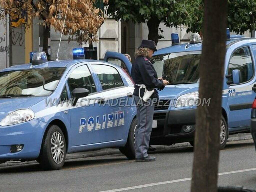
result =
[[[234,69],[241,72],[240,83],[244,83],[252,79],[254,68],[249,47],[237,49],[230,58],[228,66],[228,74],[232,74]]]

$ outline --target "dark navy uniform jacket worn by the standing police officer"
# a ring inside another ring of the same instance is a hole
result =
[[[157,73],[155,68],[153,67],[150,60],[146,57],[137,57],[132,65],[132,79],[135,84],[145,84],[147,89],[150,91],[152,89],[163,89],[163,81],[161,79],[157,79]],[[139,96],[139,87],[134,86],[133,94]],[[144,89],[141,89],[141,93],[144,93]],[[143,94],[141,94],[143,97]],[[155,92],[152,94],[151,98],[158,99],[158,92],[155,89]]]

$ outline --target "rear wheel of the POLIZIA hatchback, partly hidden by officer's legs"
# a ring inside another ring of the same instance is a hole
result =
[[[124,154],[128,159],[135,159],[135,131],[137,128],[137,119],[131,123],[127,142],[124,147],[120,147],[119,151]]]

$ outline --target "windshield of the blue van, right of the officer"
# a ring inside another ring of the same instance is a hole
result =
[[[152,57],[158,77],[170,84],[197,83],[201,51],[179,52]]]

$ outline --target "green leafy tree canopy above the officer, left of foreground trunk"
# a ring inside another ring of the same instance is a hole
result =
[[[116,20],[147,22],[157,17],[167,27],[190,26],[201,0],[109,0],[108,13]]]

